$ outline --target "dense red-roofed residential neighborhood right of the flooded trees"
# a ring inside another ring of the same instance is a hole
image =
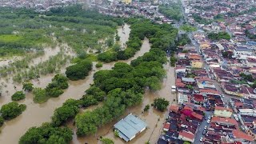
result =
[[[185,22],[198,30],[175,54],[178,106],[170,106],[158,143],[254,143],[256,3],[182,1],[182,6]]]

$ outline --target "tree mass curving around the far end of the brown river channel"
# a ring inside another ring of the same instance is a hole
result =
[[[152,48],[158,48],[161,50],[174,50],[175,42],[174,38],[178,33],[178,30],[168,24],[154,24],[149,20],[142,19],[127,19],[130,26],[130,37],[126,50],[107,51],[102,54],[98,54],[98,60],[102,62],[113,62],[117,60],[126,60],[132,58],[142,46],[142,40],[146,37],[150,39]]]

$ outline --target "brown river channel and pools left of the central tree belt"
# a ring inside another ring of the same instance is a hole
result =
[[[126,33],[129,37],[129,33]],[[150,44],[148,39],[145,39],[143,42],[142,49],[135,54],[134,58],[130,58],[127,61],[138,58],[138,56],[142,56],[142,54],[148,52],[150,50]],[[46,53],[49,54],[49,53]],[[47,56],[46,56],[47,57]],[[48,57],[50,58],[50,57]],[[42,62],[46,58],[37,58],[35,63]],[[26,99],[20,101],[19,103],[26,104],[26,110],[18,116],[18,118],[14,118],[13,120],[6,121],[4,126],[1,127],[0,134],[0,143],[18,143],[18,139],[28,130],[31,126],[40,126],[42,122],[50,122],[50,117],[54,113],[54,110],[59,106],[62,106],[62,103],[66,101],[68,98],[82,98],[84,91],[90,87],[90,83],[93,83],[93,75],[98,70],[110,70],[111,67],[114,66],[115,62],[111,62],[108,64],[104,64],[102,68],[96,69],[94,66],[94,70],[90,72],[89,76],[84,80],[69,82],[70,86],[65,93],[62,94],[58,98],[50,98],[47,102],[43,104],[35,104],[33,102],[33,95],[28,93],[26,94]],[[94,62],[95,65],[95,62]],[[63,67],[63,70],[65,67]],[[54,77],[54,74],[48,74],[46,76],[42,76],[38,80],[32,80],[34,86],[38,87],[46,87],[46,85],[51,82],[51,78]],[[14,90],[14,85],[17,87]],[[14,84],[11,80],[6,81],[6,79],[0,79],[0,86],[2,87],[2,97],[0,97],[0,106],[11,102],[11,95],[15,93],[17,90],[22,90],[22,85]]]

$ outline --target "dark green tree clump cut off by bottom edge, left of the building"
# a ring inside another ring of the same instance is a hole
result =
[[[44,123],[39,127],[31,127],[19,139],[19,144],[58,143],[68,144],[72,140],[72,131],[66,127],[54,127]]]

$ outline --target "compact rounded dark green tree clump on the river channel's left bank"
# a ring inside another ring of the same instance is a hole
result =
[[[72,81],[84,79],[92,69],[92,62],[84,60],[66,68],[66,77]]]

